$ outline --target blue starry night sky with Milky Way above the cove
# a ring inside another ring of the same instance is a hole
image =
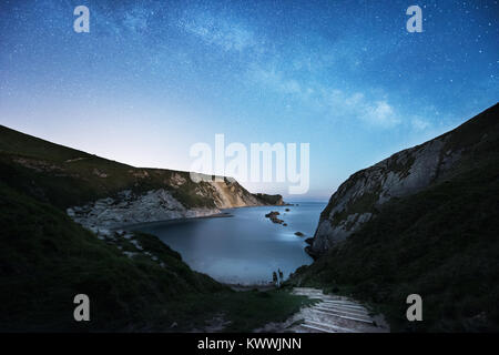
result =
[[[90,33],[73,31],[80,4]],[[406,30],[411,4],[421,33]],[[176,170],[215,133],[310,143],[301,199],[326,201],[498,101],[498,1],[3,0],[0,123]]]

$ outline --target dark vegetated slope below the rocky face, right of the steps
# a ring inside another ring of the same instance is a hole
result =
[[[368,301],[393,329],[499,331],[499,116],[486,113],[454,132],[451,143],[473,149],[445,179],[378,206],[292,283]],[[424,321],[409,323],[414,293]]]

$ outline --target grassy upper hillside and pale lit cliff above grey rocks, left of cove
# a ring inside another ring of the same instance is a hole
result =
[[[0,125],[0,175],[10,186],[60,209],[81,206],[120,192],[163,189],[186,209],[269,204],[237,181],[194,183],[189,172],[143,169],[54,144]]]

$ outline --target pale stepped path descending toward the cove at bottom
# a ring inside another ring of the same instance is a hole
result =
[[[294,316],[301,324],[289,328],[296,333],[386,333],[389,327],[381,315],[373,315],[361,304],[343,296],[325,295],[322,290],[295,287],[293,293],[319,300]]]

